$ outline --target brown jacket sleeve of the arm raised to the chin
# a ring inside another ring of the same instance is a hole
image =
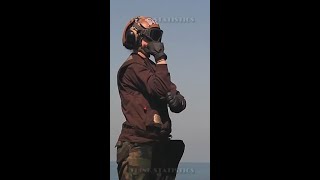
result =
[[[155,69],[152,72],[146,66],[134,63],[128,67],[126,74],[138,90],[163,99],[171,89],[170,73],[166,64],[158,64]]]

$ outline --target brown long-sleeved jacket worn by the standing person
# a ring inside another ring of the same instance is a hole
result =
[[[166,64],[155,64],[132,53],[118,71],[118,90],[126,118],[119,141],[168,139],[171,119],[166,94],[177,93]]]

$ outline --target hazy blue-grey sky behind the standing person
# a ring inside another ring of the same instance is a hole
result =
[[[210,162],[210,1],[111,0],[110,2],[110,160],[125,117],[121,111],[117,72],[130,55],[122,33],[136,16],[150,16],[164,31],[171,81],[185,97],[187,108],[170,112],[172,139],[185,143],[181,162]],[[214,148],[214,146],[213,146]]]

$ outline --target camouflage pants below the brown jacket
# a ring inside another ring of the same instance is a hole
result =
[[[174,180],[184,152],[181,140],[137,144],[117,143],[120,180]]]

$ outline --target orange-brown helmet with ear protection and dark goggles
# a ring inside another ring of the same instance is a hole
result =
[[[163,31],[159,24],[147,16],[132,18],[124,28],[122,44],[127,49],[134,49],[141,45],[141,40],[146,38],[149,41],[161,42]]]

